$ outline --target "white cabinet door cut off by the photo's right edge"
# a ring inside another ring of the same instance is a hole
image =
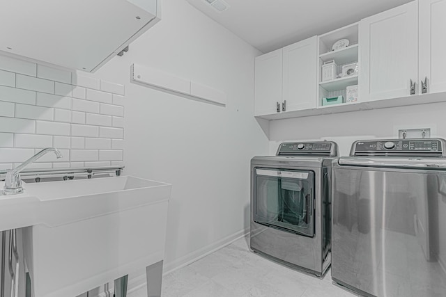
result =
[[[420,1],[420,81],[427,78],[427,93],[446,91],[445,16],[446,0]]]

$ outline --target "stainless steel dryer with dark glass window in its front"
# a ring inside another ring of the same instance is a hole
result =
[[[282,143],[251,160],[250,246],[270,259],[322,276],[330,266],[333,142]]]

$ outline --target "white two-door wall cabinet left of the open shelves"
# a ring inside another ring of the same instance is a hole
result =
[[[316,45],[314,36],[256,57],[254,115],[316,108]]]

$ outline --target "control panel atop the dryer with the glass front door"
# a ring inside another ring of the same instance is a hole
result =
[[[315,143],[282,143],[277,150],[279,155],[302,155],[302,154],[337,154],[337,146],[330,141],[321,141]]]

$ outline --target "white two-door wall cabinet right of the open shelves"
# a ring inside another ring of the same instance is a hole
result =
[[[446,0],[422,0],[360,22],[363,101],[446,91],[445,15]]]

